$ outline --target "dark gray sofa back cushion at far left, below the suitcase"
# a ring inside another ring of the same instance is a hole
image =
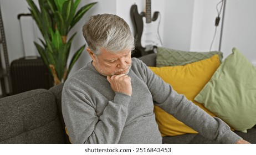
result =
[[[45,89],[0,99],[0,143],[64,143],[54,95]]]

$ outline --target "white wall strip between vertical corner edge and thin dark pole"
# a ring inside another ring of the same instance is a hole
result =
[[[223,8],[220,14],[221,20],[216,28],[215,19],[218,15],[216,9],[218,2],[220,2],[220,0],[194,1],[190,51],[209,51],[219,49]],[[221,4],[218,5],[218,9],[220,11]],[[213,40],[215,29],[216,36]],[[213,44],[211,48],[212,40]]]

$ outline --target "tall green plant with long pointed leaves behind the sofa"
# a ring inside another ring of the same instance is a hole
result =
[[[81,46],[67,64],[71,43],[76,35],[68,38],[70,29],[97,2],[86,4],[77,12],[80,0],[38,0],[39,8],[33,0],[27,0],[29,10],[35,23],[42,33],[40,44],[34,42],[44,64],[53,76],[54,85],[65,81],[68,74],[78,60],[85,45]]]

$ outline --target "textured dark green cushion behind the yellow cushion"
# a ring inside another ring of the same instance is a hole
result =
[[[222,62],[223,53],[221,51],[196,52],[158,47],[156,66],[162,67],[186,65],[203,59],[211,58],[215,54],[219,55],[219,61]]]

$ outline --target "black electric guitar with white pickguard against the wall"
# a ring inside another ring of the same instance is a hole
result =
[[[146,0],[146,11],[139,14],[136,4],[131,6],[131,19],[135,28],[135,53],[140,57],[150,53],[156,53],[157,46],[161,46],[161,38],[158,33],[160,13],[153,13],[151,18],[151,0]]]

